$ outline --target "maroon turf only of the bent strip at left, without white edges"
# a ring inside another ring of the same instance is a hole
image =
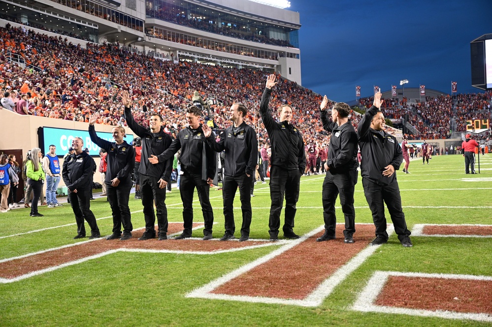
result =
[[[203,224],[194,223],[193,227],[202,226]],[[156,226],[157,229],[157,226]],[[169,224],[168,234],[178,233],[182,230],[181,224]],[[174,250],[174,251],[204,251],[212,252],[218,250],[227,250],[241,248],[246,246],[264,244],[264,242],[219,242],[213,240],[164,240],[159,241],[157,238],[139,241],[137,238],[142,236],[144,230],[134,231],[133,237],[126,241],[106,240],[100,238],[91,242],[83,242],[74,246],[55,249],[40,254],[35,254],[25,258],[14,259],[0,263],[0,278],[12,279],[31,272],[39,271],[46,268],[60,266],[69,262],[98,255],[106,251],[120,248],[143,249],[143,250]]]

